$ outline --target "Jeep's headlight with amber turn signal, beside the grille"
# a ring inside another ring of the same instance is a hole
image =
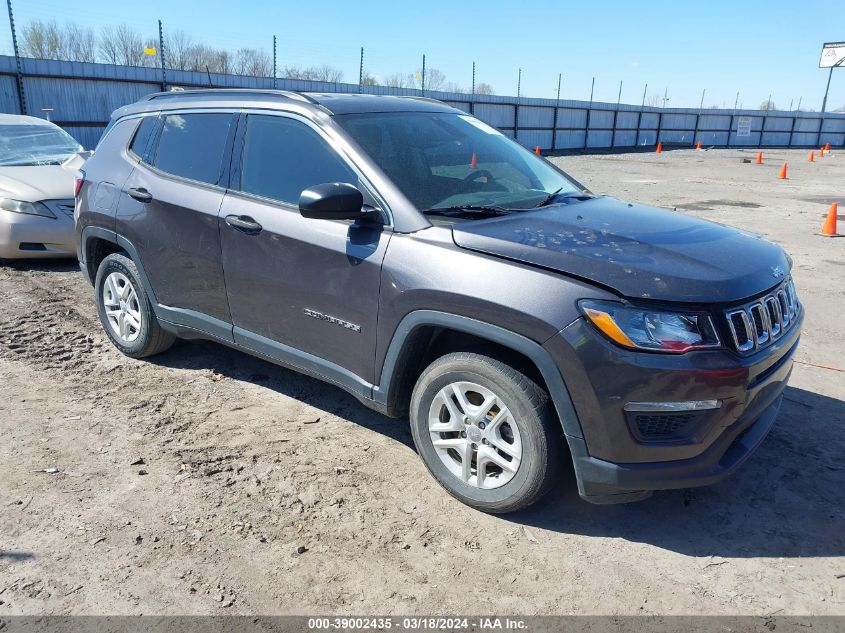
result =
[[[683,354],[719,347],[705,312],[666,312],[611,301],[580,301],[584,316],[611,341],[629,349]]]

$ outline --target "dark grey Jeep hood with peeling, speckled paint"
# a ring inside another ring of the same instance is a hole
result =
[[[469,250],[557,270],[630,298],[730,303],[788,274],[780,246],[680,213],[608,197],[454,225]]]

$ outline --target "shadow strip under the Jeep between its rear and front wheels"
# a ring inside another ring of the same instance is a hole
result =
[[[397,420],[365,407],[343,389],[211,341],[178,341],[164,354],[145,359],[175,369],[212,369],[233,380],[260,384],[414,449],[407,419]]]

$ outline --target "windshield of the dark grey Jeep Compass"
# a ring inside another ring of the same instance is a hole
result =
[[[469,115],[378,112],[335,120],[420,210],[531,207],[582,193],[543,159]]]

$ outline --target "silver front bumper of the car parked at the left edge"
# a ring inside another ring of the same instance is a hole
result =
[[[0,259],[76,257],[73,217],[55,218],[0,210]]]

